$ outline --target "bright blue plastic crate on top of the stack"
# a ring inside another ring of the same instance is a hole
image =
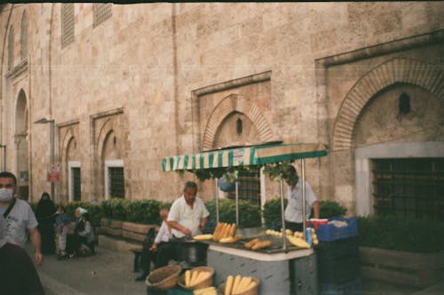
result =
[[[356,219],[335,217],[329,219],[329,221],[331,220],[345,221],[348,225],[346,227],[335,227],[332,224],[319,225],[318,230],[316,230],[316,235],[318,235],[320,241],[329,242],[358,235],[358,223]]]

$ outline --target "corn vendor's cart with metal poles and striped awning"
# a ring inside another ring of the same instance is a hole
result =
[[[303,183],[303,208],[305,210],[305,159],[327,155],[322,144],[282,144],[272,142],[260,145],[218,148],[197,154],[174,155],[163,158],[163,171],[215,171],[220,168],[258,166],[283,162],[301,161],[300,176]],[[216,173],[212,175],[213,178]],[[280,179],[282,232],[285,233],[283,218],[283,181]],[[216,179],[217,180],[217,179]],[[217,182],[217,181],[216,181]],[[218,186],[216,184],[216,191]],[[236,185],[236,223],[238,223],[238,194]],[[216,197],[218,220],[218,193]],[[305,213],[304,213],[305,215]],[[304,220],[305,227],[305,220]],[[264,235],[264,233],[257,233]],[[313,249],[301,249],[289,245],[285,235],[273,238],[271,247],[250,251],[243,248],[245,240],[234,244],[205,242],[209,244],[207,264],[214,267],[215,283],[218,285],[228,275],[250,275],[260,280],[259,294],[316,294],[317,268]]]

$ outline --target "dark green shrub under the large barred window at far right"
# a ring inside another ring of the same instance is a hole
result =
[[[444,223],[426,219],[359,217],[360,246],[397,251],[437,252],[444,250]]]

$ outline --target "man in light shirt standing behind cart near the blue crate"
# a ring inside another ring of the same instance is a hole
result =
[[[289,165],[288,170],[283,174],[283,179],[287,182],[287,208],[285,208],[285,228],[292,231],[302,231],[304,217],[302,216],[302,180],[297,176],[296,168]],[[315,219],[319,219],[320,205],[314,195],[312,186],[305,181],[305,220],[310,218],[313,208]]]

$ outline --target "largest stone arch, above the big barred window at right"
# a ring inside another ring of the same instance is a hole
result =
[[[362,109],[377,92],[396,83],[422,87],[443,99],[444,75],[439,67],[420,60],[387,60],[362,76],[345,96],[333,129],[333,151],[353,148],[354,126]]]

